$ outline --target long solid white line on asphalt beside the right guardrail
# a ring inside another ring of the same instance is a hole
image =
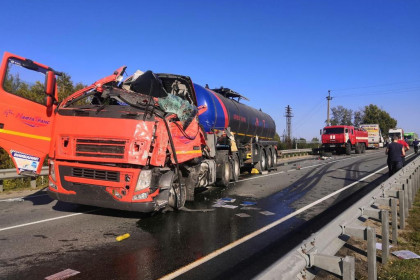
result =
[[[244,243],[244,242],[246,242],[246,241],[254,238],[255,236],[258,236],[261,233],[266,232],[267,230],[269,230],[269,229],[271,229],[271,228],[273,228],[273,227],[275,227],[275,226],[277,226],[277,225],[279,225],[279,224],[287,221],[288,219],[293,218],[294,216],[296,216],[296,215],[298,215],[298,214],[300,214],[300,213],[308,210],[309,208],[311,208],[311,207],[313,207],[313,206],[315,206],[315,205],[323,202],[324,200],[327,200],[330,197],[335,196],[335,195],[337,195],[337,194],[339,194],[339,193],[347,190],[348,188],[351,188],[352,186],[356,185],[357,183],[359,183],[361,181],[364,181],[364,180],[368,179],[369,177],[372,177],[375,174],[378,174],[379,172],[381,172],[382,170],[385,170],[387,168],[388,168],[388,166],[382,167],[382,168],[376,170],[375,172],[373,172],[372,174],[367,175],[367,176],[363,177],[362,179],[360,179],[360,180],[358,180],[356,182],[353,182],[353,183],[351,183],[348,186],[343,187],[340,190],[337,190],[337,191],[335,191],[333,193],[330,193],[329,195],[324,196],[323,198],[318,199],[317,201],[314,201],[314,202],[306,205],[305,207],[302,207],[299,210],[296,210],[295,212],[290,213],[289,215],[284,216],[281,219],[279,219],[279,220],[277,220],[275,222],[272,222],[271,224],[268,224],[265,227],[262,227],[259,230],[254,231],[253,233],[250,233],[250,234],[248,234],[248,235],[246,235],[246,236],[244,236],[244,237],[236,240],[235,242],[232,242],[232,243],[230,243],[230,244],[228,244],[228,245],[226,245],[226,246],[224,246],[224,247],[222,247],[220,249],[217,249],[216,251],[208,254],[207,256],[205,256],[205,257],[203,257],[203,258],[201,258],[199,260],[196,260],[195,262],[192,262],[192,263],[190,263],[190,264],[188,264],[188,265],[186,265],[184,267],[181,267],[180,269],[178,269],[178,270],[176,270],[176,271],[174,271],[174,272],[172,272],[170,274],[167,274],[167,275],[163,276],[160,279],[161,280],[167,280],[167,279],[169,280],[169,279],[173,279],[175,277],[178,277],[178,276],[180,276],[180,275],[182,275],[182,274],[190,271],[191,269],[193,269],[193,268],[195,268],[195,267],[197,267],[197,266],[199,266],[199,265],[201,265],[201,264],[203,264],[203,263],[205,263],[205,262],[207,262],[207,261],[209,261],[209,260],[211,260],[211,259],[213,259],[213,258],[215,258],[215,257],[217,257],[219,255],[221,255],[222,253],[224,253],[224,252],[226,252],[226,251],[228,251],[228,250],[230,250],[230,249],[232,249],[232,248],[234,248],[234,247],[236,247],[236,246],[238,246],[238,245],[240,245],[240,244],[242,244],[242,243]]]

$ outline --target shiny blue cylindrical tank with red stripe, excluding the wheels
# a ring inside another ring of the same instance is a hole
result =
[[[194,84],[194,89],[198,106],[207,107],[207,111],[199,116],[206,132],[230,127],[240,143],[247,143],[254,136],[261,140],[273,139],[276,124],[268,114],[232,99],[244,97],[229,89],[217,93],[197,84]]]

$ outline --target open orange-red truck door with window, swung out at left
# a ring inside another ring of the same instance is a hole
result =
[[[51,142],[54,70],[5,53],[0,66],[0,147],[19,174],[39,174]]]

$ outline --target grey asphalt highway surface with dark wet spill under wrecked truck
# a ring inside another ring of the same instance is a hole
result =
[[[214,209],[212,204],[220,197],[237,199],[233,203],[238,206],[236,209],[216,208],[212,212],[182,211],[150,216],[60,203],[42,192],[24,201],[0,201],[0,277],[40,279],[72,268],[81,272],[73,279],[156,279],[384,165],[385,156],[380,150],[325,161],[303,160],[296,165],[279,166],[268,175],[245,175],[235,186],[210,188],[198,195],[197,202],[188,205],[191,209]],[[342,200],[348,192],[368,185],[383,174],[386,170],[268,231],[264,238],[251,240],[252,246],[239,246],[240,253],[233,252],[236,249],[224,253],[201,265],[202,268],[182,274],[181,278],[193,279],[207,266],[208,278],[201,278],[215,279],[225,272],[213,269],[209,273],[214,265],[236,268],[247,264],[250,257],[258,254],[258,248],[270,247],[279,237]],[[261,209],[241,210],[239,204],[243,201],[254,201]],[[241,218],[236,215],[239,213],[249,217]],[[73,214],[77,215],[69,216]],[[115,241],[115,236],[126,232],[131,234],[129,239]]]

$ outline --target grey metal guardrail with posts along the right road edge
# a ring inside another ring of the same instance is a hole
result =
[[[303,241],[283,258],[271,265],[256,279],[313,279],[316,271],[326,270],[342,279],[355,279],[354,257],[334,256],[350,237],[367,241],[368,279],[377,279],[376,231],[365,226],[364,219],[381,221],[382,263],[389,257],[389,211],[392,243],[397,243],[398,220],[405,228],[405,218],[420,188],[420,157],[376,187],[318,232]],[[379,209],[379,206],[384,209]],[[397,210],[398,207],[398,210]],[[399,218],[399,219],[398,219]]]

